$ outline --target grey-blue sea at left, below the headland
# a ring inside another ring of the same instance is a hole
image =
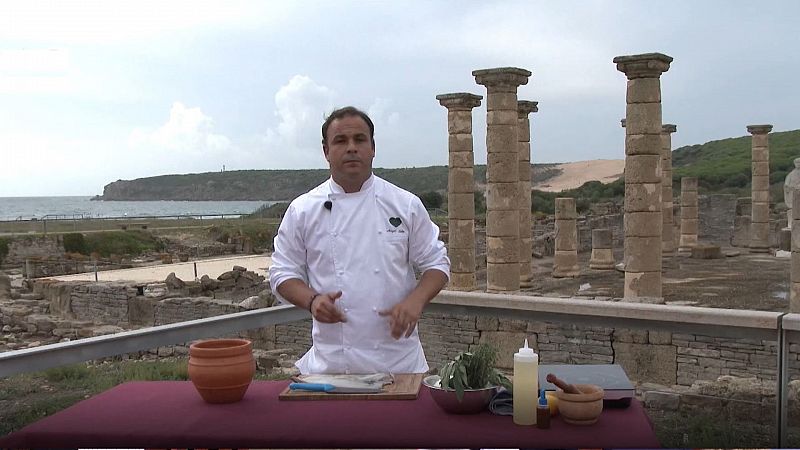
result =
[[[0,197],[0,221],[178,215],[238,216],[274,201],[93,201],[92,197]]]

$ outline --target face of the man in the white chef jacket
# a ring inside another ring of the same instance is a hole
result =
[[[336,119],[328,126],[325,138],[322,150],[334,181],[340,185],[358,183],[360,188],[372,173],[375,157],[375,143],[370,139],[367,123],[359,116]]]

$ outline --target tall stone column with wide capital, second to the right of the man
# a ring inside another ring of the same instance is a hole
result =
[[[486,287],[519,290],[519,151],[517,87],[530,71],[515,67],[472,72],[486,86]]]

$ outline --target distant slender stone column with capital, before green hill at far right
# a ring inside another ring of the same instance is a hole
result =
[[[769,132],[772,125],[748,125],[753,135],[752,193],[753,209],[750,213],[750,252],[769,251]]]

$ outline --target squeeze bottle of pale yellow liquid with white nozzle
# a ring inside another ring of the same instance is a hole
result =
[[[539,355],[525,346],[514,354],[514,423],[536,424],[536,400],[539,393]]]

